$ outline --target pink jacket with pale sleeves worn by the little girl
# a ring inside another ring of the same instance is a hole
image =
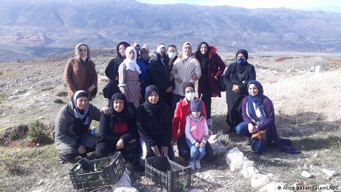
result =
[[[195,142],[204,142],[204,135],[208,135],[208,126],[205,116],[201,116],[198,121],[195,121],[192,115],[186,117],[186,128],[185,128],[186,138],[194,144]]]

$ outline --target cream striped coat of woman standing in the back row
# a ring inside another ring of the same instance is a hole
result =
[[[191,81],[193,84],[196,80],[191,79],[191,77],[196,74],[198,79],[201,77],[201,67],[200,62],[195,58],[194,55],[190,56],[187,59],[182,59],[182,55],[179,55],[173,64],[172,68],[173,73],[171,75],[176,78],[177,76],[181,78],[183,82]],[[182,90],[182,83],[179,83],[175,80],[175,89],[173,89],[173,94],[177,94],[180,96],[185,96]]]

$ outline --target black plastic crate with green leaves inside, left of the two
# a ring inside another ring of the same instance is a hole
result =
[[[103,171],[94,172],[94,165],[100,165]],[[79,168],[80,165],[80,168]],[[92,171],[92,172],[90,172]],[[82,158],[69,171],[75,190],[90,190],[103,186],[114,185],[124,173],[121,152],[114,156],[89,160]]]

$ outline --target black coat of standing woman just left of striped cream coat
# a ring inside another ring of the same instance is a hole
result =
[[[161,93],[165,92],[170,86],[175,87],[172,81],[170,81],[170,66],[166,60],[164,65],[159,54],[154,52],[148,65],[150,84],[155,85]]]

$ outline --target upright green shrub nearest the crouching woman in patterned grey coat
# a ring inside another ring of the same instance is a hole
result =
[[[39,145],[50,144],[52,139],[44,133],[45,125],[39,120],[35,120],[29,125],[27,133],[28,141]]]

